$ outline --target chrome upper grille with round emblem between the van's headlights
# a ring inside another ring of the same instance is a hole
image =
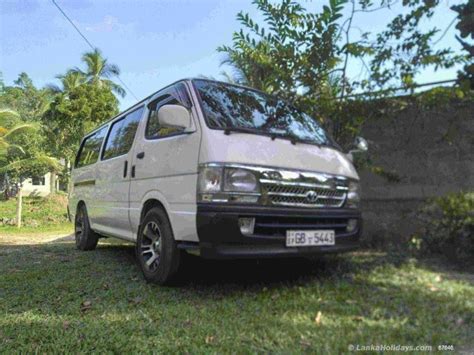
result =
[[[261,180],[263,193],[271,205],[298,207],[341,207],[347,195],[343,185],[317,185]]]

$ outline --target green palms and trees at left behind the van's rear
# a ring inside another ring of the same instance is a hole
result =
[[[0,173],[10,181],[61,170],[58,159],[71,161],[84,134],[118,112],[113,92],[124,90],[112,81],[119,68],[96,49],[82,56],[85,69],[56,76],[59,85],[38,89],[26,73],[12,86],[0,77]],[[54,157],[54,158],[51,158]]]

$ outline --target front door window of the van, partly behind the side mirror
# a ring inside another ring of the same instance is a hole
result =
[[[165,90],[162,96],[149,105],[150,116],[148,117],[145,131],[145,137],[148,139],[166,137],[179,133],[181,130],[175,127],[160,127],[160,122],[158,121],[158,110],[163,105],[182,105],[184,107],[191,107],[191,101],[183,83],[178,83]]]

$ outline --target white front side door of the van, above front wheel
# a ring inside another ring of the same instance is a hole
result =
[[[182,105],[193,116],[190,130],[161,127],[158,110],[163,105]],[[176,240],[192,239],[196,231],[196,185],[200,132],[194,107],[184,83],[159,92],[148,104],[134,146],[130,184],[130,221],[138,230],[144,201],[158,199],[165,205]]]

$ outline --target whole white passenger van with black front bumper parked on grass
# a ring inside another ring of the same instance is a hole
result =
[[[83,138],[69,195],[76,245],[92,250],[101,236],[133,242],[145,279],[160,284],[183,252],[352,250],[362,220],[351,161],[316,119],[276,97],[181,80]]]

